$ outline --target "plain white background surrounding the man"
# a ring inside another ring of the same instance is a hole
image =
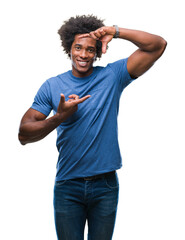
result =
[[[106,25],[148,31],[168,42],[153,68],[121,97],[123,167],[118,171],[120,196],[113,239],[185,239],[183,9],[180,0],[1,3],[0,239],[56,239],[56,132],[26,146],[20,145],[17,133],[40,85],[71,68],[57,31],[77,14],[94,14]],[[127,41],[114,39],[96,64],[105,66],[135,49]]]

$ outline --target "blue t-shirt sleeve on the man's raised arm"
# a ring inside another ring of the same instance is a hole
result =
[[[127,70],[127,61],[128,61],[128,58],[125,58],[109,64],[112,71],[114,72],[117,79],[119,80],[122,90],[136,79],[130,76]]]

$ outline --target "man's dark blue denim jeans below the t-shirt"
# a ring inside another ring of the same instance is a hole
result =
[[[55,182],[54,216],[58,240],[111,240],[119,195],[117,173],[96,180]]]

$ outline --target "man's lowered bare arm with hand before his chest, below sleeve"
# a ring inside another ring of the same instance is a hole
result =
[[[68,117],[70,117],[78,109],[78,104],[88,99],[90,95],[79,98],[73,94],[69,96],[66,102],[65,97],[61,94],[57,113],[48,119],[46,115],[30,108],[23,116],[19,128],[19,141],[22,145],[36,142],[46,137]]]

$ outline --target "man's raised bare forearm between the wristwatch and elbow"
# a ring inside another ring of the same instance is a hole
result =
[[[137,47],[140,48],[140,50],[146,52],[159,50],[165,42],[165,40],[160,36],[126,28],[119,28],[119,38],[134,43]]]

